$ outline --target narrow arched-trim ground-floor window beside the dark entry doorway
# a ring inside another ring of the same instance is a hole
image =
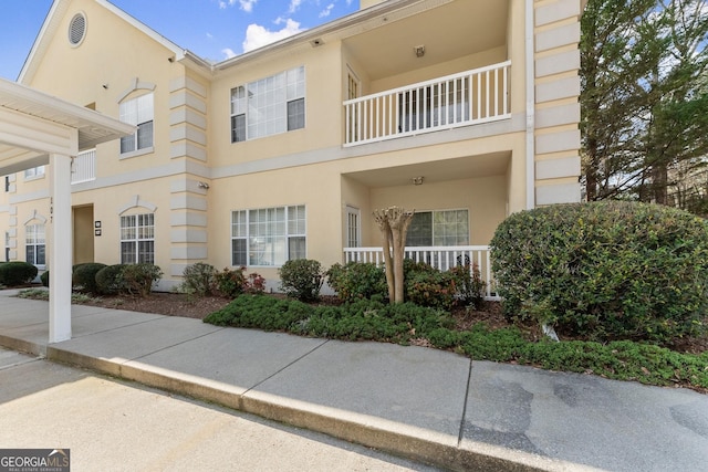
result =
[[[121,263],[155,263],[155,214],[121,217]]]

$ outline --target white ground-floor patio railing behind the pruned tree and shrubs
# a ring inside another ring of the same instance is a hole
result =
[[[409,247],[405,250],[405,256],[416,262],[426,262],[440,271],[470,264],[470,269],[479,270],[481,279],[487,284],[485,298],[499,300],[488,245]],[[384,250],[383,248],[344,248],[344,262],[372,262],[383,265]]]

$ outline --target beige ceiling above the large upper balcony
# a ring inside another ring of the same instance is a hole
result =
[[[457,0],[398,21],[384,15],[381,27],[344,43],[376,81],[503,46],[508,14],[508,0]]]

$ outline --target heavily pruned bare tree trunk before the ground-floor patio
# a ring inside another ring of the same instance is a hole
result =
[[[406,248],[406,233],[413,221],[415,210],[398,207],[374,210],[374,220],[383,237],[384,265],[391,303],[404,302],[403,260]]]

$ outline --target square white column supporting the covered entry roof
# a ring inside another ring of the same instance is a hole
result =
[[[71,157],[49,157],[51,220],[49,241],[49,342],[71,339]]]

